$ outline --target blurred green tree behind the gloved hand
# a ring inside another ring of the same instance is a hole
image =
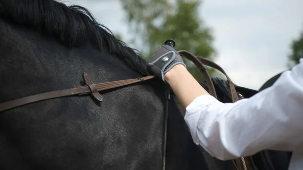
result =
[[[210,60],[215,58],[211,29],[199,18],[199,0],[120,0],[132,30],[132,42],[146,60],[165,40],[174,39],[176,50],[187,50]],[[204,77],[184,59],[188,71],[197,79]],[[209,70],[212,74],[214,70]]]

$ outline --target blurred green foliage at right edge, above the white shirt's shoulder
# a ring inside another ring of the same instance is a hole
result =
[[[299,37],[291,43],[291,54],[288,56],[288,67],[292,68],[294,65],[298,64],[300,58],[303,58],[303,30]]]

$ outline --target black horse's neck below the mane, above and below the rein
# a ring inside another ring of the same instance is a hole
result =
[[[79,86],[83,72],[94,83],[140,77],[108,52],[90,45],[68,48],[54,38],[0,22],[0,102]],[[63,97],[1,114],[0,138],[18,142],[0,144],[0,157],[7,159],[0,167],[17,169],[8,162],[21,157],[42,168],[160,168],[163,92],[146,82],[102,95],[102,103],[88,95]],[[62,163],[66,157],[73,161]]]

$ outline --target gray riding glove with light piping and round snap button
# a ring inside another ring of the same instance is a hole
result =
[[[184,64],[180,54],[169,45],[162,45],[153,56],[151,56],[148,62],[148,68],[151,72],[155,74],[158,78],[161,78],[165,83],[164,75],[170,71],[174,66]]]

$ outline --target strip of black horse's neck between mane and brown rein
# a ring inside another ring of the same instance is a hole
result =
[[[77,86],[83,72],[95,83],[140,77],[106,50],[100,52],[89,44],[69,48],[34,30],[0,22],[1,71],[15,79],[8,80],[8,84],[22,82],[39,92],[43,89],[37,87],[40,83],[49,91]]]

